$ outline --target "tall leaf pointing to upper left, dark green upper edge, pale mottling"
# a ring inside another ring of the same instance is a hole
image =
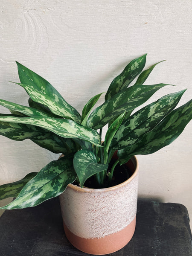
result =
[[[46,105],[52,113],[80,122],[81,116],[44,78],[17,63],[21,85],[35,102]],[[17,83],[18,84],[18,83]]]

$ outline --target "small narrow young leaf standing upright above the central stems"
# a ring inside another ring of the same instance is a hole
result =
[[[114,135],[116,134],[116,131],[119,129],[120,125],[122,124],[122,121],[125,117],[126,111],[122,113],[120,116],[116,118],[116,120],[111,124],[111,126],[108,128],[108,131],[105,135],[105,149],[108,152],[111,140],[113,139]]]

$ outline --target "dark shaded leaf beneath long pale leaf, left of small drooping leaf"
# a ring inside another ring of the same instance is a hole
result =
[[[55,154],[62,153],[64,155],[67,155],[70,152],[76,152],[78,150],[75,147],[75,143],[73,142],[72,139],[66,139],[56,134],[51,134],[49,137],[45,138],[44,140],[32,140],[32,141],[37,145],[39,145],[40,147],[46,148]]]

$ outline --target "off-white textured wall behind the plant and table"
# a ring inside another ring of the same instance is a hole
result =
[[[81,112],[129,61],[159,64],[148,84],[171,83],[152,99],[192,96],[191,0],[0,0],[0,98],[27,104],[15,60],[47,79]],[[103,99],[103,98],[102,98]],[[3,107],[1,112],[9,113]],[[192,218],[192,122],[171,145],[140,160],[139,194],[184,204]],[[0,137],[0,184],[39,171],[58,156],[29,140]]]

